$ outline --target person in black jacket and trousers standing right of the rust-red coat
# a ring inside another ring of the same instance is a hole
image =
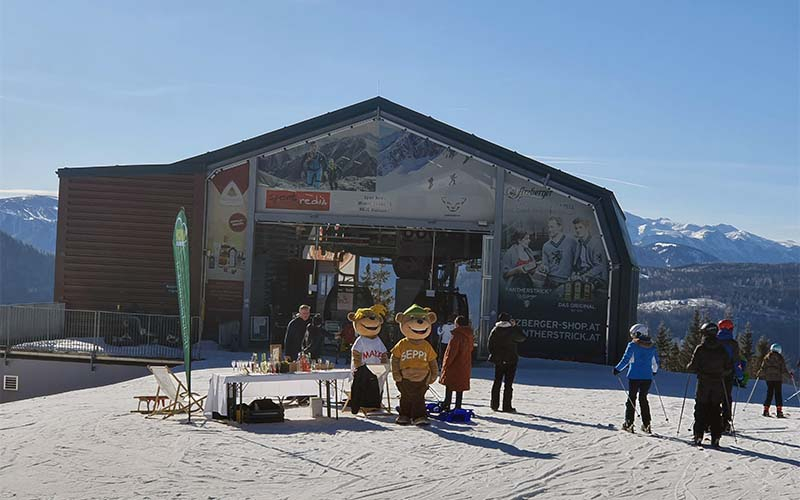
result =
[[[503,411],[514,413],[511,406],[514,376],[517,374],[517,344],[525,342],[526,337],[511,315],[503,312],[497,315],[497,323],[489,334],[489,361],[494,363],[494,384],[492,384],[492,410],[500,408],[500,386],[503,387]]]

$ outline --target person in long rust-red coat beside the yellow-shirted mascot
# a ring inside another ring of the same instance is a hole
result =
[[[469,390],[470,373],[472,372],[472,328],[469,318],[458,316],[453,336],[444,351],[442,375],[439,383],[445,386],[442,411],[450,411],[453,393],[456,393],[455,408],[461,408],[461,397]]]

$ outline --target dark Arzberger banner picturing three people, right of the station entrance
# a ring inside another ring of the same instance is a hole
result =
[[[608,260],[592,209],[506,176],[499,310],[528,357],[605,361]]]

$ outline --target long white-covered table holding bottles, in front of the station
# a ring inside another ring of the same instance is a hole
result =
[[[208,382],[208,397],[205,404],[205,416],[211,418],[214,412],[228,416],[229,394],[244,400],[244,391],[251,385],[257,385],[260,395],[283,398],[286,396],[310,396],[319,392],[322,397],[322,386],[326,388],[328,417],[331,416],[331,384],[336,398],[336,418],[339,418],[338,381],[352,377],[349,369],[320,370],[295,373],[269,374],[220,374],[214,373]],[[235,402],[235,400],[234,400]]]

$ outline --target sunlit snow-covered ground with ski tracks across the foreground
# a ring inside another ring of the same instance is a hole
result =
[[[216,353],[196,366],[193,388],[204,393],[230,359]],[[428,428],[397,426],[394,416],[311,419],[307,407],[287,410],[285,423],[242,428],[146,420],[130,410],[133,396],[155,390],[151,377],[6,403],[0,497],[797,498],[796,401],[784,420],[739,404],[738,442],[698,450],[687,444],[691,399],[676,437],[686,374],[657,378],[669,423],[653,394],[656,436],[618,430],[626,396],[610,367],[523,360],[514,415],[489,409],[491,376],[487,365],[473,370],[471,424]],[[792,392],[784,386],[784,397]],[[763,398],[762,382],[753,401]]]

